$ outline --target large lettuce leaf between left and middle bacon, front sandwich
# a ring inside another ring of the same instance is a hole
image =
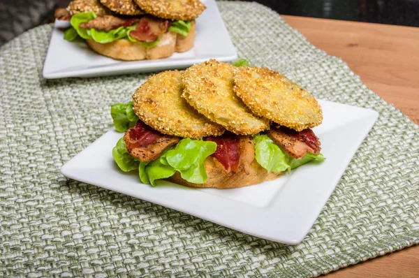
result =
[[[179,171],[184,180],[193,183],[207,181],[204,161],[216,150],[216,143],[185,138],[176,147],[166,149],[158,159],[140,163],[140,180],[155,186],[155,181],[171,177]]]

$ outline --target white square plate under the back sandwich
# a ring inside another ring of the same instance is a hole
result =
[[[165,59],[119,61],[102,56],[91,50],[84,42],[71,43],[64,40],[63,28],[70,25],[68,22],[57,20],[52,30],[43,77],[52,79],[163,71],[186,68],[208,59],[219,61],[237,59],[237,52],[215,0],[204,0],[203,3],[207,8],[196,19],[196,38],[193,48]]]

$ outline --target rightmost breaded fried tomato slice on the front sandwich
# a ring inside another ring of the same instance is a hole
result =
[[[281,73],[269,68],[235,68],[234,92],[250,110],[295,131],[318,126],[323,121],[314,96]]]

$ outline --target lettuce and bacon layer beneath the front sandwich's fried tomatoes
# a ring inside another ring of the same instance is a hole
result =
[[[325,160],[320,154],[320,141],[311,129],[298,132],[272,126],[253,137],[224,133],[202,140],[182,139],[152,129],[130,115],[131,111],[132,103],[111,107],[115,128],[125,131],[112,150],[112,156],[119,168],[125,172],[138,169],[140,180],[152,186],[156,185],[156,180],[171,177],[177,171],[188,182],[204,183],[207,180],[205,159],[212,159],[226,175],[235,173],[243,156],[249,155],[240,152],[241,142],[247,138],[247,143],[254,144],[255,150],[250,154],[253,156],[250,161],[256,159],[267,173],[289,173],[309,161]]]

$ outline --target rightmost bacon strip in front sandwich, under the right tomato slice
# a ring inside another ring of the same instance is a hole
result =
[[[267,135],[295,159],[302,159],[307,152],[319,154],[321,151],[320,141],[311,129],[298,132],[284,126],[272,126]]]

